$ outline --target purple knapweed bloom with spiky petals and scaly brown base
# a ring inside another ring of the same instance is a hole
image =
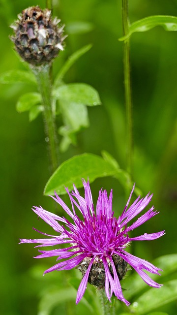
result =
[[[161,269],[144,259],[126,252],[126,246],[132,241],[155,240],[164,234],[164,231],[161,231],[152,234],[145,233],[137,237],[129,236],[130,231],[158,214],[152,206],[145,214],[128,226],[129,221],[145,209],[152,198],[152,194],[148,194],[142,199],[138,197],[128,207],[133,187],[122,214],[116,218],[112,211],[112,190],[108,197],[107,191],[101,189],[96,208],[94,208],[89,181],[86,182],[83,180],[83,185],[85,189],[84,198],[79,194],[74,185],[74,190],[71,193],[66,189],[71,201],[71,210],[57,193],[55,193],[55,197],[52,196],[67,215],[69,215],[71,218],[70,221],[48,212],[42,207],[34,207],[32,209],[38,217],[51,225],[59,235],[53,236],[47,234],[48,238],[34,240],[21,239],[20,243],[40,244],[36,247],[60,246],[61,244],[66,246],[62,249],[39,250],[40,255],[35,258],[58,256],[57,260],[64,259],[47,269],[44,273],[72,268],[81,270],[83,279],[78,288],[76,304],[83,297],[87,282],[89,281],[100,288],[105,288],[110,302],[111,296],[114,293],[119,300],[129,305],[129,302],[123,296],[120,286],[120,280],[126,273],[127,264],[134,268],[148,285],[156,288],[161,286],[161,284],[157,284],[145,272],[148,271],[152,274],[160,275],[158,271]],[[81,212],[80,216],[77,215],[76,209]]]

